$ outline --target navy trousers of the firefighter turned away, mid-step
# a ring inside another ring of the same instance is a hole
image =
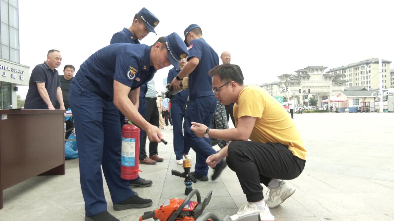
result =
[[[205,163],[205,160],[210,155],[215,154],[216,151],[210,146],[209,138],[199,138],[190,130],[191,122],[203,123],[209,127],[214,116],[215,109],[216,98],[211,95],[190,98],[188,109],[185,113],[184,146],[191,147],[196,152],[196,164],[194,169],[195,174],[199,176],[208,175],[208,165]],[[219,162],[219,164],[221,164],[221,162]]]

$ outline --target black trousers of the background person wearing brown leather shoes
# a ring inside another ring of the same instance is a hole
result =
[[[157,108],[156,100],[147,99],[147,112],[145,114],[145,120],[151,123],[154,126],[159,127],[159,110]],[[140,145],[141,149],[139,150],[139,160],[145,160],[147,158],[147,153],[145,150],[147,142],[147,133],[144,131],[142,136],[142,143]],[[149,156],[153,156],[158,154],[157,153],[157,142],[149,142]]]

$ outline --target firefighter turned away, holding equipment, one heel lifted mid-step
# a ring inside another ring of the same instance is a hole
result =
[[[219,56],[203,39],[203,32],[197,24],[191,24],[184,31],[185,44],[189,47],[188,63],[172,80],[171,87],[178,90],[181,80],[189,76],[189,103],[185,113],[184,146],[191,146],[196,152],[195,171],[192,174],[201,181],[208,180],[207,157],[216,151],[210,146],[209,131],[205,138],[197,137],[191,130],[191,122],[209,126],[216,109],[216,98],[212,91],[212,77],[209,70],[219,65]],[[215,180],[226,166],[222,160],[214,168],[212,180]]]

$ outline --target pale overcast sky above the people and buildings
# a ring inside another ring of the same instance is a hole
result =
[[[158,35],[150,33],[141,43],[151,45],[172,32],[183,37],[189,24],[199,24],[219,56],[224,50],[231,52],[231,62],[240,65],[245,83],[269,83],[309,65],[328,70],[371,57],[394,61],[393,5],[379,0],[19,0],[20,63],[31,72],[45,61],[48,50],[57,49],[63,57],[59,73],[66,64],[78,70],[146,7],[160,24]],[[156,90],[163,89],[170,68],[157,72]],[[19,94],[24,97],[26,92],[24,87]]]

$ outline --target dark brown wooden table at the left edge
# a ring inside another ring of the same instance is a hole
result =
[[[3,190],[37,175],[64,175],[65,110],[0,110],[0,209]]]

